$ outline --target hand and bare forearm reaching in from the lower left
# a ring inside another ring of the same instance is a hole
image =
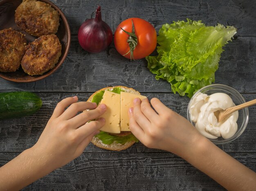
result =
[[[60,101],[38,142],[0,168],[0,190],[20,190],[83,153],[105,124],[97,118],[107,107],[77,101],[76,96]],[[78,114],[84,110],[89,111]]]

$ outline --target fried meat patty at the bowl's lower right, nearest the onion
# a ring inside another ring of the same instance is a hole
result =
[[[61,43],[56,35],[43,35],[26,46],[21,66],[28,75],[43,75],[54,68],[61,56]]]

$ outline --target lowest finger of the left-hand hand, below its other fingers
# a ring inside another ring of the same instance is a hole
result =
[[[75,130],[78,141],[84,140],[86,137],[90,136],[93,132],[99,130],[101,127],[105,125],[105,119],[99,118],[95,121],[90,121],[85,125],[81,126],[77,130]]]

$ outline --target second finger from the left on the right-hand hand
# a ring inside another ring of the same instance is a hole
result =
[[[144,129],[150,125],[150,121],[146,116],[141,112],[141,100],[139,98],[135,98],[133,100],[133,117],[138,125]]]

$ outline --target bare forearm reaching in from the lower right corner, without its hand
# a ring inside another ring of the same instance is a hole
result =
[[[256,188],[256,173],[206,138],[191,151],[184,159],[226,189],[249,191]]]

